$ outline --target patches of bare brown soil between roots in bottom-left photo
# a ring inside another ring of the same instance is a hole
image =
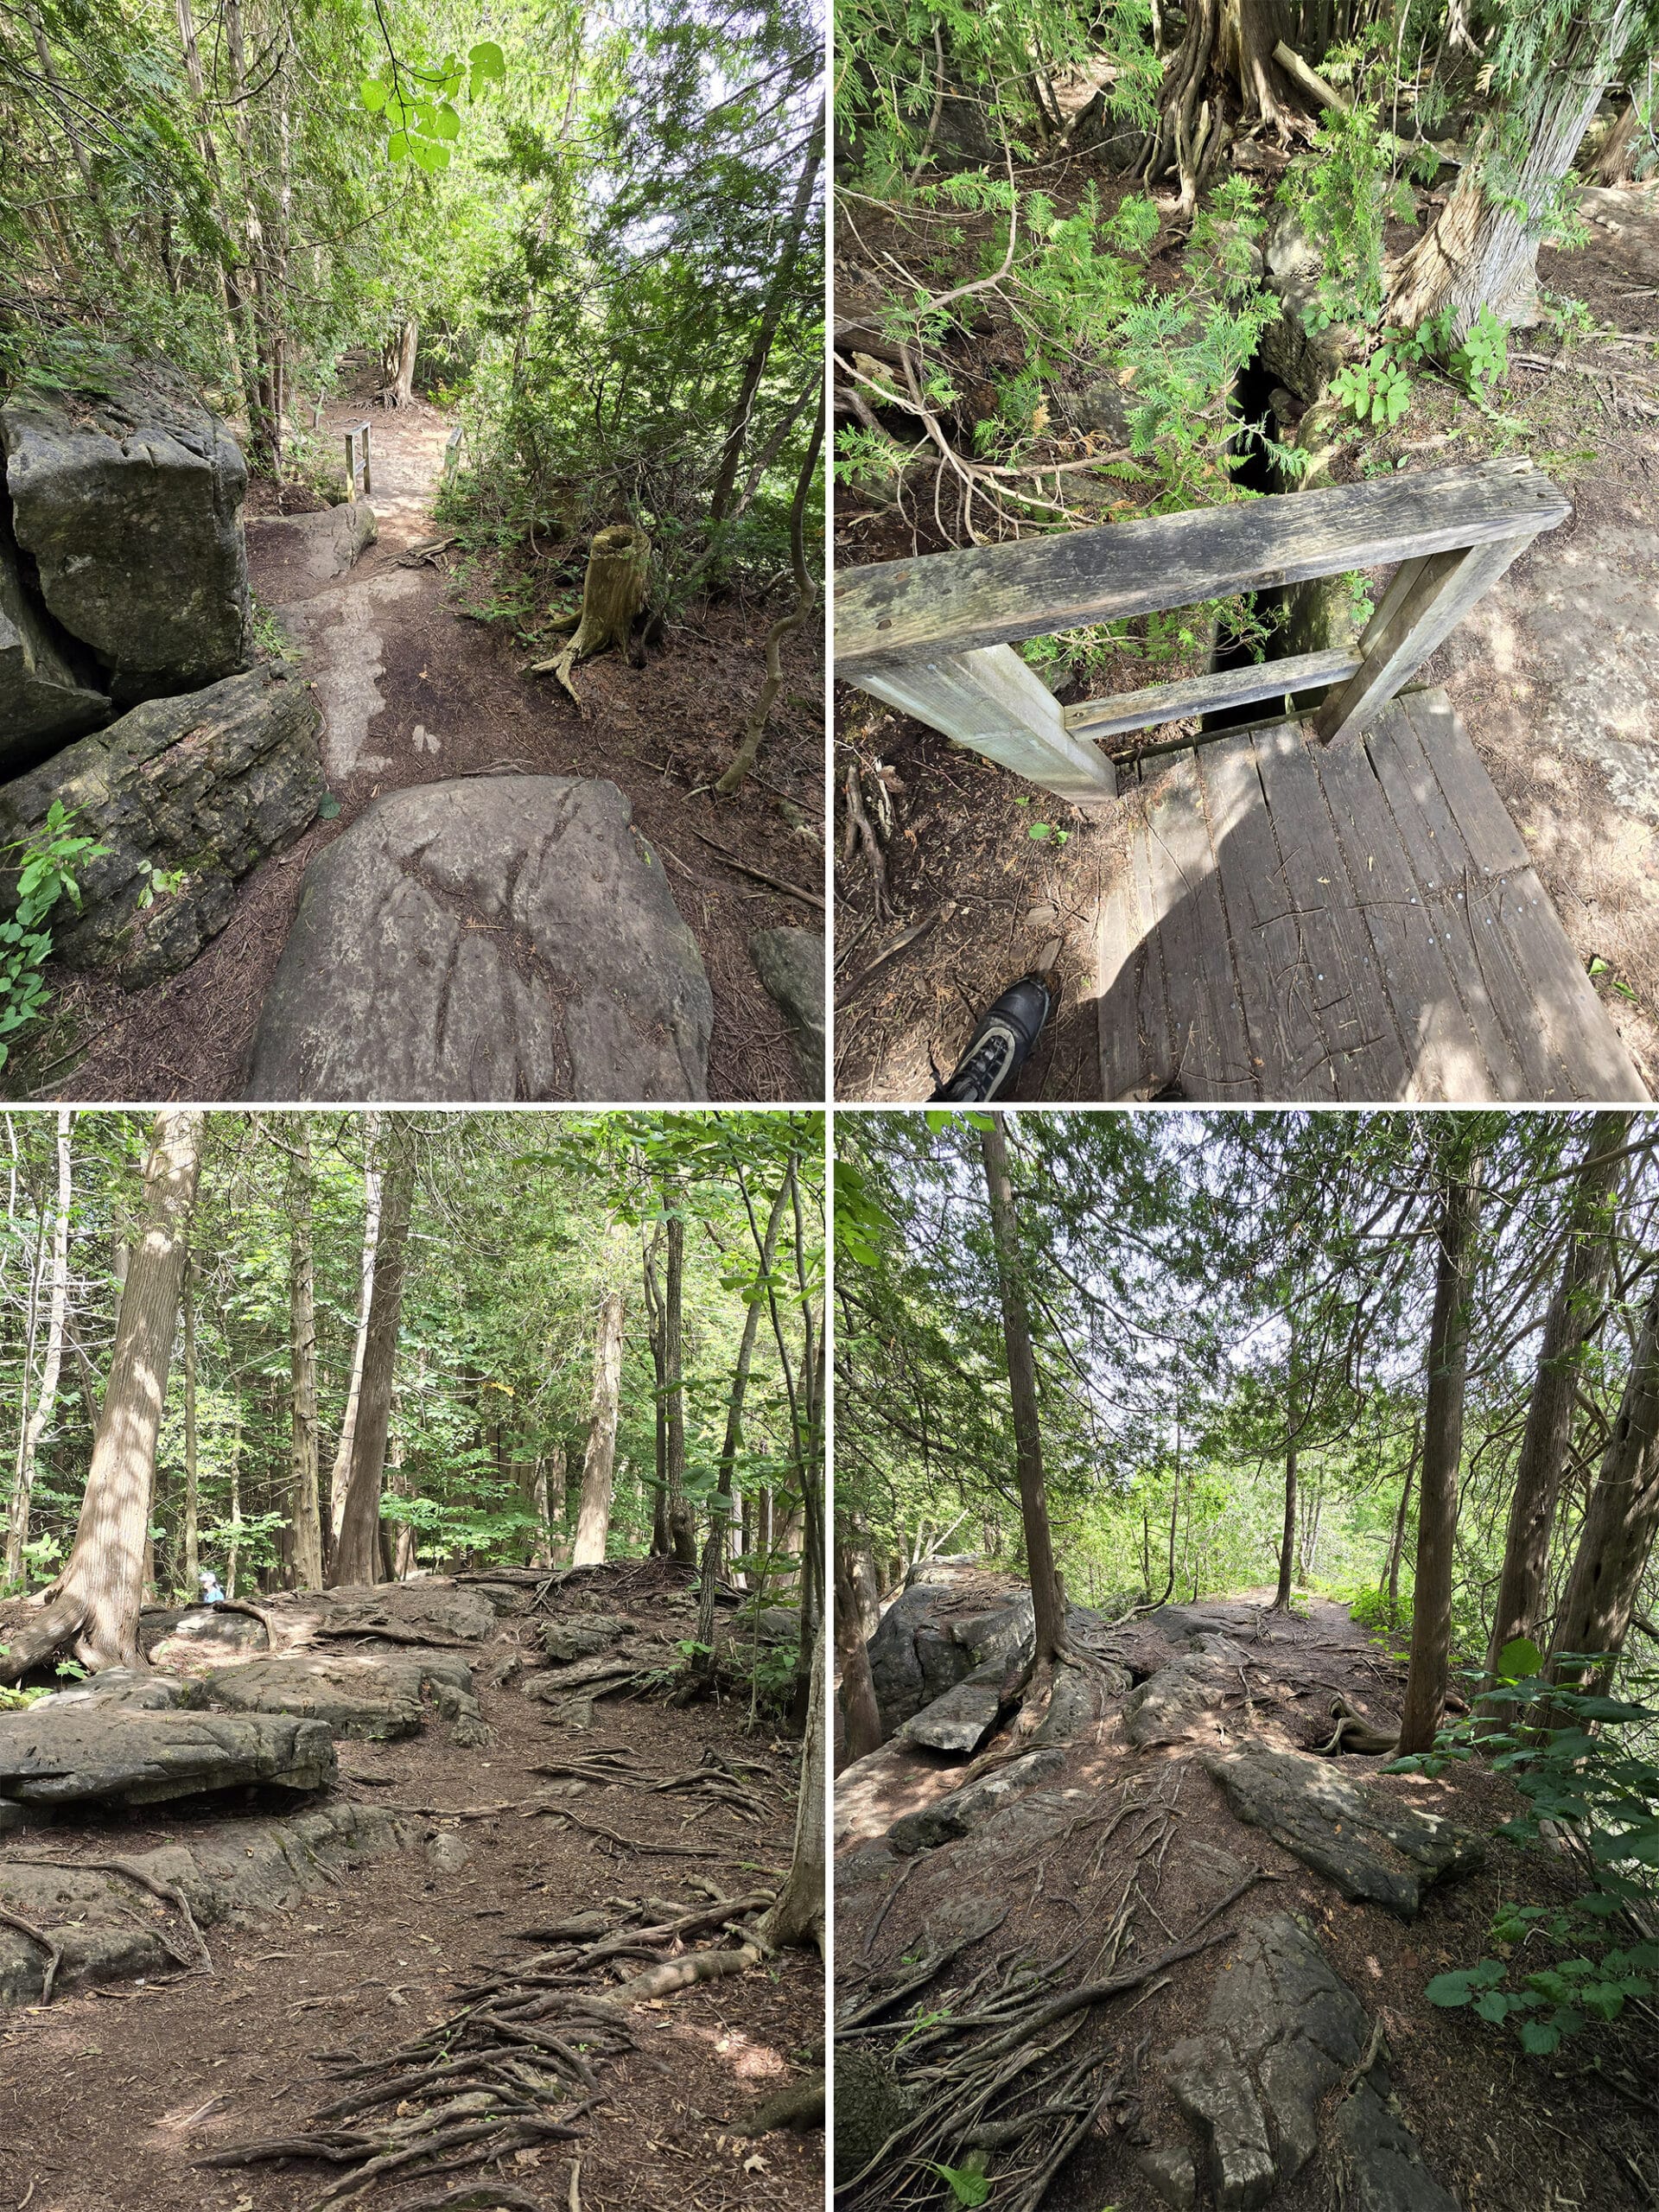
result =
[[[622,1604],[650,1628],[684,1635],[672,1577],[653,1571],[619,1588],[615,1575],[595,1604]],[[542,1708],[515,1690],[487,1688],[487,1672],[518,1648],[518,1621],[478,1663],[484,1717],[495,1730],[487,1750],[456,1750],[449,1730],[427,1721],[400,1743],[343,1743],[341,1790],[365,1803],[438,1807],[429,1834],[449,1829],[471,1847],[458,1874],[440,1874],[422,1854],[376,1860],[338,1887],[312,1891],[279,1920],[208,1931],[212,1978],[115,1984],[20,2013],[0,2011],[0,2201],[29,2212],[301,2212],[336,2177],[321,2161],[232,2170],[192,2161],[228,2143],[294,2128],[325,2104],[330,2088],[314,2064],[321,2051],[361,2057],[392,2051],[453,2006],[456,1989],[480,1969],[522,1958],[533,1944],[515,1931],[593,1909],[617,1896],[686,1898],[688,1874],[737,1893],[785,1869],[794,1816],[774,1787],[774,1820],[734,1816],[686,1820],[675,1796],[588,1790],[573,1801],[582,1818],[626,1836],[617,1849],[549,1818],[500,1812],[462,1820],[465,1807],[522,1803],[546,1783],[538,1761],[584,1750],[626,1747],[653,1776],[695,1767],[706,1745],[754,1754],[772,1743],[743,1728],[737,1705],[672,1710],[661,1701],[608,1699],[591,1734],[553,1730]],[[471,1663],[471,1661],[469,1661]],[[772,1765],[785,1781],[779,1745]],[[246,1816],[246,1807],[234,1812]],[[188,1840],[212,1820],[197,1805],[170,1805],[128,1818],[62,1820],[53,1840],[66,1854],[142,1851]],[[695,1845],[703,1858],[657,1856],[659,1845]],[[40,1851],[40,1832],[29,1847]],[[816,1953],[790,1951],[763,1971],[734,1975],[630,2015],[639,2048],[602,2075],[604,2097],[582,2121],[582,2141],[507,2161],[511,2181],[549,2212],[566,2212],[571,2157],[582,2159],[586,2212],[703,2212],[787,2208],[816,2212],[823,2201],[823,2137],[734,2137],[732,2124],[801,2073],[823,2044],[823,1973]],[[476,2174],[471,2179],[478,2179]],[[369,2212],[396,2212],[442,2181],[394,2179],[372,2188]],[[449,2177],[447,2185],[460,2185]]]

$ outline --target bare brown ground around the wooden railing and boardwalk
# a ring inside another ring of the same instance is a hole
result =
[[[1088,164],[1055,184],[1068,206]],[[1033,179],[1044,186],[1048,177]],[[1113,179],[1099,179],[1106,204]],[[1121,186],[1117,186],[1121,188]],[[1652,195],[1593,195],[1590,239],[1544,250],[1540,279],[1579,299],[1599,327],[1641,343],[1579,343],[1562,367],[1515,363],[1495,407],[1500,429],[1453,385],[1420,378],[1396,431],[1354,440],[1338,480],[1491,451],[1528,453],[1573,498],[1575,515],[1540,540],[1442,646],[1422,681],[1442,681],[1528,841],[1573,949],[1593,962],[1597,991],[1648,1088],[1659,1088],[1659,617],[1652,551],[1659,491],[1659,212]],[[1608,228],[1617,223],[1617,228]],[[1411,232],[1396,226],[1389,248]],[[845,248],[843,248],[845,250]],[[975,274],[975,270],[967,270]],[[1179,257],[1155,241],[1152,285],[1179,281]],[[1009,334],[991,319],[953,349],[960,387],[1006,369]],[[1515,334],[1513,354],[1559,358],[1548,330]],[[1075,380],[1075,378],[1071,378]],[[1055,440],[1075,458],[1079,440]],[[1077,478],[1071,480],[1073,491]],[[918,502],[916,531],[894,518],[838,518],[836,562],[894,560],[949,542]],[[1371,580],[1380,588],[1387,571]],[[1104,697],[1164,681],[1188,659],[1113,661],[1062,686],[1060,697]],[[1126,745],[1168,743],[1192,726],[1139,732]],[[1095,927],[1113,821],[1046,799],[962,752],[938,730],[852,686],[836,688],[836,805],[863,763],[885,781],[894,830],[885,838],[889,909],[876,911],[872,869],[838,823],[836,872],[836,1095],[905,1102],[949,1071],[978,1015],[1020,973],[1053,956],[1060,1002],[1013,1097],[1097,1099]],[[1020,801],[1026,801],[1024,805]],[[1048,838],[1033,838],[1033,825]],[[1066,832],[1066,843],[1057,834]],[[856,987],[905,931],[929,922]],[[1053,953],[1057,940],[1057,953]]]

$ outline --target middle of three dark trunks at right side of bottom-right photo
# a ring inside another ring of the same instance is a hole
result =
[[[1486,1672],[1498,1677],[1498,1657],[1515,1637],[1531,1637],[1544,1613],[1544,1575],[1551,1555],[1555,1502],[1562,1493],[1566,1447],[1573,1438],[1584,1347],[1601,1323],[1601,1283],[1610,1256],[1613,1203],[1624,1161],[1617,1155],[1630,1135],[1628,1113],[1599,1113],[1590,1124],[1584,1159],[1573,1181],[1562,1241],[1562,1281],[1544,1316],[1526,1431],[1515,1464],[1515,1495],[1509,1502],[1504,1568],[1498,1579]]]

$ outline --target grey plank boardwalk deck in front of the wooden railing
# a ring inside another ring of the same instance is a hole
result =
[[[1104,1097],[1641,1102],[1444,692],[1325,748],[1298,721],[1119,779]]]

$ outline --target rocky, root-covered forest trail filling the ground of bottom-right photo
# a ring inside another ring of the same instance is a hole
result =
[[[973,1721],[975,1677],[995,1690],[1029,1635],[1020,1582],[947,1571],[887,1610],[872,1672],[900,1734],[836,1783],[849,2212],[887,2201],[858,2170],[894,2130],[914,2132],[885,2188],[914,2159],[960,2163],[960,2106],[953,2135],[927,2132],[938,2081],[971,2106],[1009,2212],[1652,2201],[1639,2101],[1588,2051],[1542,2070],[1425,1997],[1482,1955],[1500,1900],[1571,1876],[1491,1836],[1515,1801],[1489,1770],[1318,1756],[1334,1699],[1398,1725],[1405,1668],[1347,1608],[1270,1599],[1121,1626],[1073,1606],[1079,1663],[1020,1741],[995,1694]],[[1095,1997],[1066,2013],[1079,1986]],[[1046,2048],[1037,2006],[1068,2022]],[[1615,2046],[1597,2057],[1619,2073]]]

